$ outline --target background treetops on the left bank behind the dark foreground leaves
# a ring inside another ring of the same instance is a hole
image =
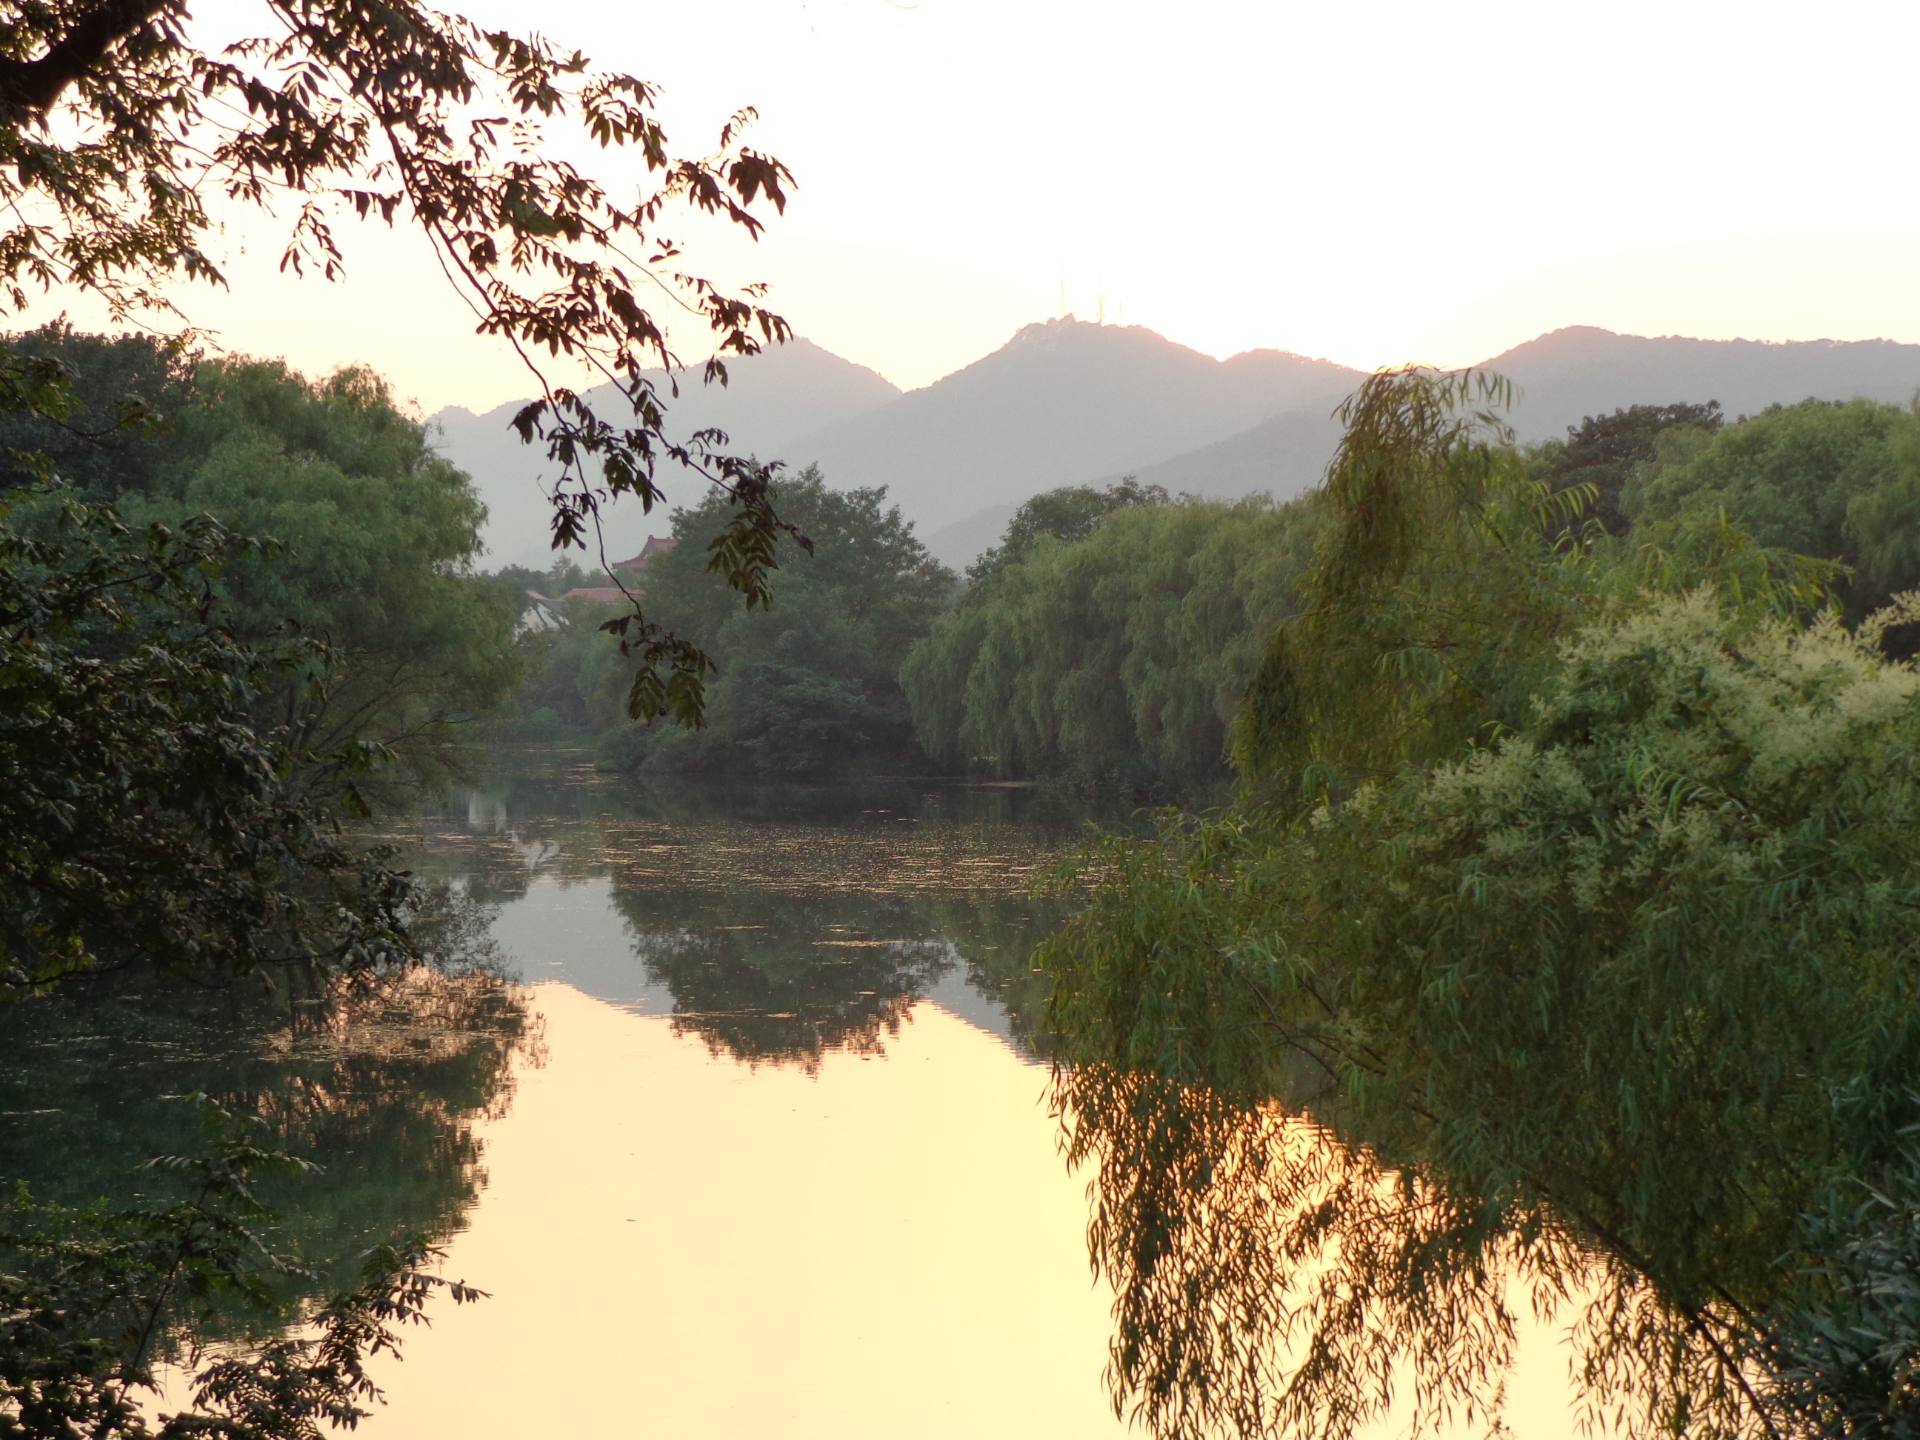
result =
[[[213,515],[280,541],[228,555],[215,593],[221,622],[244,643],[269,645],[292,622],[328,647],[324,703],[298,705],[305,749],[357,739],[390,747],[413,778],[445,772],[467,722],[515,680],[513,611],[470,574],[484,511],[467,476],[432,453],[378,376],[340,371],[309,384],[263,361],[186,369],[146,338],[63,328],[10,348],[69,384],[60,422],[44,407],[10,420],[21,444],[52,444],[38,463],[61,480],[81,476],[134,524],[179,530]],[[129,422],[111,397],[129,376],[156,394],[171,386],[177,409]],[[296,708],[288,691],[313,676],[290,672],[252,708],[284,722]]]

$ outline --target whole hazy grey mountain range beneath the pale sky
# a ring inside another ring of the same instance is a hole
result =
[[[1169,492],[1286,497],[1332,459],[1338,401],[1361,372],[1279,349],[1217,361],[1142,326],[1071,317],[1029,324],[1000,349],[900,394],[872,371],[795,340],[735,361],[726,388],[687,384],[678,434],[720,426],[735,445],[791,468],[818,463],[839,488],[887,486],[927,549],[952,566],[998,541],[1031,495],[1133,474]],[[1772,403],[1920,392],[1920,346],[1891,340],[1688,340],[1553,330],[1478,369],[1513,380],[1521,440],[1549,440],[1588,415],[1636,403],[1718,399],[1728,417]],[[442,449],[492,511],[488,563],[547,563],[536,451],[507,430],[516,405],[434,417]],[[672,486],[674,476],[664,476]],[[691,495],[693,480],[670,493]],[[609,515],[609,553],[666,530],[637,505]]]

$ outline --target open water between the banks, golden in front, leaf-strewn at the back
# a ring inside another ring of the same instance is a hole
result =
[[[499,902],[547,1062],[451,1240],[492,1298],[376,1369],[374,1436],[1125,1432],[1031,1048],[1027,879],[1068,841],[958,808],[657,816],[570,772],[420,826]],[[1546,1340],[1519,1440],[1572,1434]]]

